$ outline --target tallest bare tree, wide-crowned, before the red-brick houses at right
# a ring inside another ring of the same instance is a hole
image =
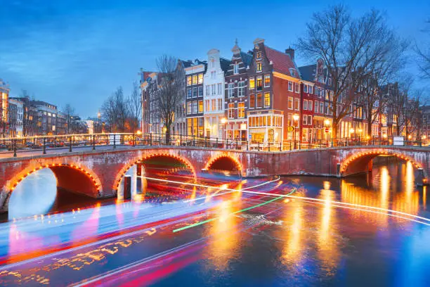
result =
[[[341,120],[352,113],[363,70],[379,55],[377,47],[382,39],[378,36],[385,30],[385,19],[378,11],[352,18],[343,5],[338,5],[314,13],[311,23],[307,24],[306,37],[299,38],[299,51],[313,60],[321,58],[325,63],[335,138]]]

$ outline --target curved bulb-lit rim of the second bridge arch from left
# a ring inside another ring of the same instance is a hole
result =
[[[133,167],[133,165],[137,165],[141,163],[143,166],[145,166],[145,162],[148,162],[148,160],[153,160],[156,158],[164,158],[164,159],[170,159],[174,160],[176,163],[180,163],[181,165],[185,166],[190,170],[191,174],[193,174],[194,181],[197,181],[197,173],[195,171],[195,168],[193,167],[193,164],[190,162],[190,160],[180,156],[180,155],[174,155],[171,153],[150,153],[147,155],[143,155],[141,157],[134,158],[130,162],[128,162],[122,169],[118,172],[117,177],[114,181],[114,186],[112,189],[114,191],[118,191],[119,184],[121,184],[122,178],[126,175],[126,172]]]

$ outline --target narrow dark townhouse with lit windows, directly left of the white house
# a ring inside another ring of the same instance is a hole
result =
[[[195,60],[185,68],[185,109],[188,136],[204,136],[203,78],[207,62]]]

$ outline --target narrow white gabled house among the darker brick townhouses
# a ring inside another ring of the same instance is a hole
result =
[[[207,52],[207,70],[204,74],[204,136],[223,137],[221,119],[224,112],[224,72],[230,67],[230,60],[220,58],[219,50]]]

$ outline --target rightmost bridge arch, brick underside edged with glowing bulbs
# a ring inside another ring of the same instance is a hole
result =
[[[344,158],[344,160],[341,161],[339,172],[342,176],[358,174],[360,172],[369,172],[372,170],[372,160],[379,155],[395,156],[400,160],[411,162],[412,165],[417,169],[422,170],[423,168],[422,165],[419,162],[417,162],[414,158],[411,158],[410,156],[405,155],[401,152],[369,150],[369,151],[360,151],[358,153],[354,153]],[[424,173],[423,174],[424,177],[427,178],[427,174],[425,170],[423,170],[423,173]]]

